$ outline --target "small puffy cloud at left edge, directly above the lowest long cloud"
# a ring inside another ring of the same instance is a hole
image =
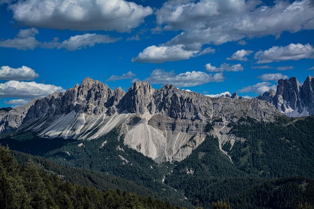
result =
[[[0,68],[0,80],[34,80],[38,78],[39,74],[35,70],[22,66],[21,68],[11,68],[9,66],[2,66]]]

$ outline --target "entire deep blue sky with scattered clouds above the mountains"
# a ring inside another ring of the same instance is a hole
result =
[[[86,77],[255,97],[314,72],[314,2],[0,0],[0,107]]]

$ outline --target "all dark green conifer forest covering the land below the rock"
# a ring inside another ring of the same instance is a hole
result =
[[[314,116],[228,126],[243,139],[222,147],[232,161],[209,134],[160,164],[118,130],[90,141],[1,134],[0,208],[313,208]]]

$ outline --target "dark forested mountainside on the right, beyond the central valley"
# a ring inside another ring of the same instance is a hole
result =
[[[229,199],[234,208],[296,208],[314,203],[314,117],[263,123],[253,119],[229,124],[244,138],[225,144],[232,162],[208,136],[186,160],[166,175],[166,184],[209,207]],[[303,176],[303,177],[301,177]]]

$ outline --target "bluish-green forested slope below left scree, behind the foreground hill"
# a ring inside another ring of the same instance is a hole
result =
[[[27,133],[5,137],[0,140],[0,143],[8,144],[12,150],[42,156],[61,165],[91,172],[98,171],[98,176],[101,173],[99,178],[103,178],[103,175],[118,176],[140,185],[141,188],[135,189],[129,183],[122,184],[129,187],[124,188],[125,190],[130,189],[129,191],[135,191],[137,194],[150,195],[172,202],[179,202],[185,198],[182,192],[177,192],[171,186],[162,183],[163,173],[170,168],[164,164],[157,164],[152,159],[125,146],[122,140],[118,140],[115,130],[94,140],[46,139],[39,138],[34,133]],[[25,161],[25,157],[23,158]],[[23,159],[20,161],[22,162]],[[47,165],[47,162],[45,164]],[[57,173],[65,175],[62,170]],[[75,178],[75,181],[70,180],[81,183],[83,179]],[[82,183],[85,185],[85,182]],[[100,189],[104,188],[100,187]],[[151,195],[152,191],[154,191],[153,195]]]

